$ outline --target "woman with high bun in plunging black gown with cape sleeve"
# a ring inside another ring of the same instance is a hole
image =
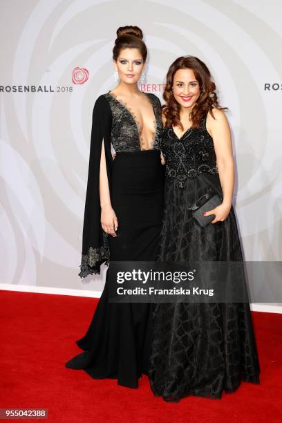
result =
[[[160,100],[138,90],[147,57],[142,31],[127,26],[117,35],[113,60],[120,83],[100,95],[93,109],[81,277],[100,273],[109,261],[110,267],[111,261],[154,261],[160,236]],[[148,373],[151,317],[151,303],[109,303],[108,270],[86,335],[76,341],[84,352],[66,367],[136,388]]]

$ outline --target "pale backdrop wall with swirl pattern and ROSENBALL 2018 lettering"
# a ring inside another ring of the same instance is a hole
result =
[[[0,283],[100,290],[78,276],[93,104],[115,85],[119,26],[149,49],[143,91],[195,55],[228,106],[234,206],[248,261],[281,260],[281,15],[270,0],[0,3]],[[78,291],[77,291],[78,292]]]

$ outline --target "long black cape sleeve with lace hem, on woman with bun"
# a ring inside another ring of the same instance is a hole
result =
[[[111,108],[104,95],[97,98],[92,115],[91,144],[88,165],[88,180],[84,208],[82,235],[82,259],[79,276],[100,274],[102,263],[109,263],[108,234],[100,223],[100,159],[102,142],[106,157],[106,171],[111,186]]]

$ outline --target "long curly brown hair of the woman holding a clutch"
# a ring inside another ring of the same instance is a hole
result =
[[[192,127],[198,128],[200,120],[204,118],[208,111],[211,112],[215,107],[220,110],[228,110],[227,107],[222,107],[218,104],[218,97],[216,95],[216,84],[212,82],[212,75],[209,69],[198,57],[182,56],[178,57],[169,67],[167,72],[167,82],[164,88],[162,97],[165,104],[162,106],[162,112],[166,120],[165,126],[178,126],[181,131],[184,131],[183,125],[180,122],[180,104],[176,101],[172,87],[173,78],[178,69],[191,69],[194,71],[195,77],[200,86],[200,96],[191,110],[190,119],[193,122]]]

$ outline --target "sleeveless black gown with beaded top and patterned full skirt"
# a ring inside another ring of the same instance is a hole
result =
[[[206,126],[180,139],[165,128],[164,218],[158,259],[167,262],[242,261],[233,206],[224,222],[204,229],[189,207],[207,192],[223,196],[214,142]],[[236,281],[234,281],[236,283]],[[259,359],[249,303],[158,303],[153,310],[149,378],[167,402],[197,395],[220,398],[241,380],[259,384]]]

